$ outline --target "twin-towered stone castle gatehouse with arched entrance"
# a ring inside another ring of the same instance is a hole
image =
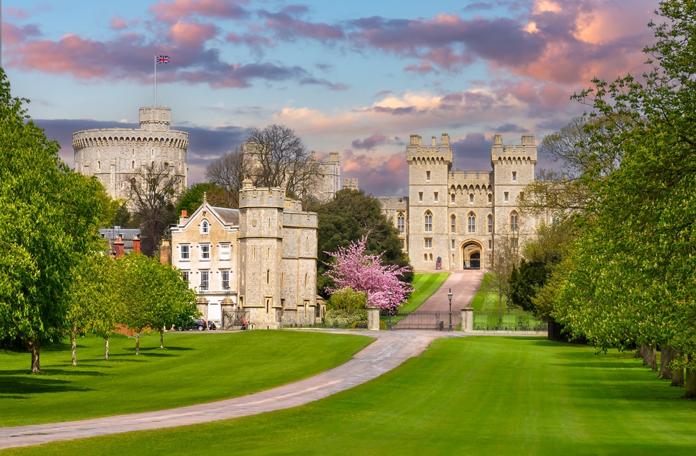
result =
[[[416,270],[478,269],[491,264],[500,242],[519,248],[540,219],[521,217],[517,198],[535,178],[537,146],[533,134],[521,144],[503,146],[496,134],[493,171],[455,171],[450,136],[429,146],[411,135],[406,146],[409,195],[381,197],[383,213],[399,230],[404,251]]]

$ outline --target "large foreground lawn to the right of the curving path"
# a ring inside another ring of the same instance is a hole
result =
[[[696,401],[632,354],[541,338],[437,340],[302,407],[8,455],[668,455],[696,448]],[[5,453],[3,453],[5,454]]]

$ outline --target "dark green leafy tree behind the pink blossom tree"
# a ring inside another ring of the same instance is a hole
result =
[[[365,254],[382,255],[384,265],[409,267],[410,272],[400,276],[402,282],[411,283],[413,272],[409,257],[402,251],[399,233],[393,223],[381,212],[377,198],[366,196],[363,190],[343,189],[327,203],[309,203],[308,210],[319,214],[319,261],[317,264],[317,293],[327,297],[326,288],[334,288],[331,279],[324,276],[329,269],[326,263],[338,247],[348,248],[367,235]]]

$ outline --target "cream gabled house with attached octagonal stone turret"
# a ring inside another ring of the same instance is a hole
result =
[[[256,328],[313,324],[317,305],[317,229],[314,212],[246,180],[239,209],[213,207],[204,198],[172,232],[172,263],[198,291],[198,308],[220,322],[226,309],[249,310]]]

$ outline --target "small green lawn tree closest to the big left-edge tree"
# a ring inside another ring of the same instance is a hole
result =
[[[65,330],[70,336],[72,365],[77,365],[77,336],[104,327],[102,320],[113,321],[113,306],[109,306],[114,293],[109,276],[112,263],[102,253],[85,255],[70,283]]]

